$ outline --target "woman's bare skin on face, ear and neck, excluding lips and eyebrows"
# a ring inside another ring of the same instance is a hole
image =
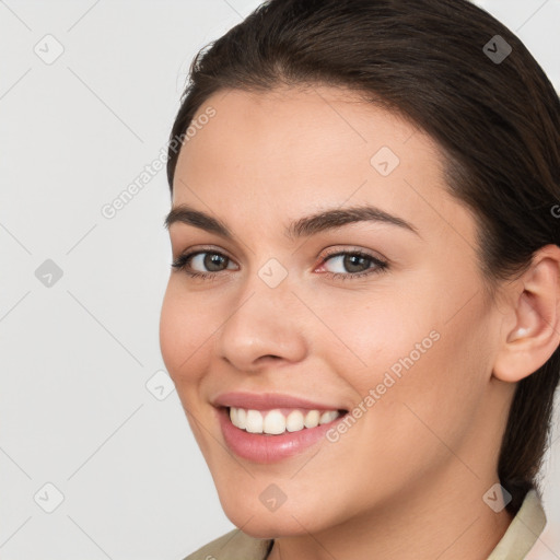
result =
[[[234,241],[174,223],[172,252],[202,246],[231,260],[212,281],[172,271],[160,337],[225,514],[276,538],[271,560],[487,558],[512,520],[482,497],[499,481],[515,383],[559,343],[560,249],[544,247],[490,300],[474,217],[445,190],[438,145],[412,124],[330,86],[222,91],[198,114],[208,106],[215,116],[180,151],[173,207],[219,218]],[[400,160],[388,176],[370,163],[384,145]],[[362,203],[418,235],[381,222],[283,233],[291,220]],[[327,248],[362,249],[388,268],[328,278],[375,265],[345,268]],[[288,272],[273,289],[258,276],[270,258]],[[220,270],[196,260],[196,271]],[[226,447],[210,404],[220,393],[350,410],[432,330],[439,340],[336,443],[270,465]],[[271,483],[287,497],[273,512],[259,500]]]

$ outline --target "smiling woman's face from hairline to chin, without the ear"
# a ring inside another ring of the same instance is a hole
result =
[[[327,86],[222,91],[194,121],[173,190],[191,212],[170,235],[174,259],[205,253],[171,272],[161,349],[229,518],[271,537],[405,498],[480,501],[505,413],[500,315],[434,142]],[[240,413],[247,431],[228,404],[264,412]],[[255,433],[275,408],[266,429],[290,429]],[[311,409],[349,413],[313,428]]]

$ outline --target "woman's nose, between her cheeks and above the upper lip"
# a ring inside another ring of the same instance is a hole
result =
[[[270,363],[305,358],[304,320],[308,311],[284,280],[270,288],[257,276],[244,287],[217,332],[218,352],[235,369],[258,372]]]

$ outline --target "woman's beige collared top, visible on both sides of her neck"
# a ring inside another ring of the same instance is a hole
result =
[[[546,524],[540,498],[535,490],[530,490],[487,560],[522,560],[538,540]],[[271,539],[254,538],[233,529],[184,560],[266,560],[271,542]]]

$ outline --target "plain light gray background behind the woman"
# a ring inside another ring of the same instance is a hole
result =
[[[161,372],[165,172],[113,219],[101,209],[161,154],[196,51],[258,3],[0,1],[1,559],[178,560],[234,527]],[[478,3],[560,90],[560,1]],[[46,483],[63,495],[51,513]],[[538,558],[560,558],[542,540]]]

